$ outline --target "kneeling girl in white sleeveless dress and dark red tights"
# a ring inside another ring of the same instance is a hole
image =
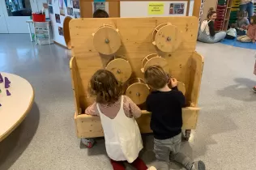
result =
[[[122,86],[109,70],[97,70],[89,90],[96,96],[96,103],[86,108],[85,113],[100,116],[113,169],[125,170],[122,161],[127,161],[139,170],[146,170],[146,164],[138,158],[143,142],[134,119],[140,117],[140,108],[129,97],[122,96]]]

